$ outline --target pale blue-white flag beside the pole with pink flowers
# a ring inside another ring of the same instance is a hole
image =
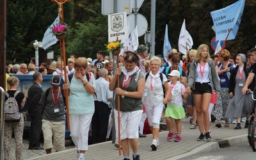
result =
[[[54,44],[57,43],[58,39],[56,38],[56,36],[52,35],[52,33],[51,33],[52,29],[51,28],[53,26],[57,25],[58,23],[60,23],[60,14],[54,20],[54,22],[51,24],[51,26],[49,26],[49,28],[47,28],[47,30],[44,33],[44,38],[42,40],[42,48],[44,50],[46,50],[51,45],[54,45]]]

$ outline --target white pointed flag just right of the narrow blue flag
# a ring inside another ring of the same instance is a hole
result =
[[[191,35],[189,35],[188,31],[186,30],[186,22],[184,19],[180,29],[179,51],[186,55],[189,49],[192,48],[192,46],[193,46],[193,39]]]

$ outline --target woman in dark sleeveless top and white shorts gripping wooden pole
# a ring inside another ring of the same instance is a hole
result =
[[[124,67],[116,68],[115,76],[109,83],[109,90],[116,91],[120,95],[120,139],[122,143],[122,151],[124,159],[130,159],[129,147],[131,145],[133,151],[133,159],[140,159],[138,152],[138,127],[142,115],[142,101],[145,79],[143,72],[137,66],[138,55],[133,52],[126,52],[124,57]],[[117,84],[117,77],[119,77],[120,84]],[[117,99],[115,100],[115,125],[116,132],[118,132],[118,106]]]

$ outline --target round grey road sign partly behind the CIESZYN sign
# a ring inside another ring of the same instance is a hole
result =
[[[129,22],[130,31],[133,31],[135,29],[135,14],[134,13],[127,16],[127,22]],[[137,28],[138,28],[138,36],[144,35],[148,29],[147,19],[140,13],[137,13]]]

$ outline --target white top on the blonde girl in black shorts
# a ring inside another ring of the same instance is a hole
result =
[[[204,73],[203,77],[201,75],[201,71]],[[200,71],[200,64],[198,63],[197,68],[196,68],[196,82],[200,83],[207,83],[210,82],[210,70],[209,70],[209,64],[206,62],[205,63],[205,68],[204,66],[201,66],[201,71]]]

